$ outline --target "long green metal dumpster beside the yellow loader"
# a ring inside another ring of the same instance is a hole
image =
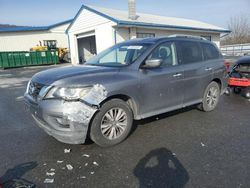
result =
[[[59,63],[58,51],[0,52],[0,68],[15,68],[57,63]]]

